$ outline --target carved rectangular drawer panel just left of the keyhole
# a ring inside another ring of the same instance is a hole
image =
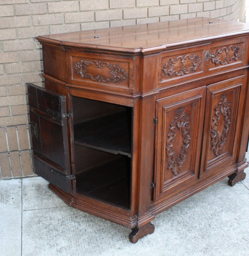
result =
[[[203,73],[205,64],[204,48],[195,47],[178,51],[162,53],[158,70],[158,87],[165,86],[165,82],[178,82],[199,77]]]

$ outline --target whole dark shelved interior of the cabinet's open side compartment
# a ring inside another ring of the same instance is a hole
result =
[[[76,191],[129,208],[132,108],[72,101]]]

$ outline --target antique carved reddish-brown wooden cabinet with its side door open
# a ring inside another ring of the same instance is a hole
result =
[[[39,36],[34,166],[67,204],[152,233],[155,215],[245,178],[249,25],[195,18]]]

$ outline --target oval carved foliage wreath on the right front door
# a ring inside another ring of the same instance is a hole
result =
[[[211,125],[211,145],[214,154],[216,156],[220,156],[222,154],[223,145],[226,143],[226,135],[229,129],[230,122],[230,102],[227,102],[226,96],[223,94],[218,106],[215,108],[215,115],[213,117],[212,125]],[[218,131],[218,124],[220,121],[220,115],[224,117],[224,129],[220,136],[220,132]]]

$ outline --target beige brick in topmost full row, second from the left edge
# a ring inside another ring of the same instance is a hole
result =
[[[16,15],[42,14],[47,12],[47,4],[18,4],[15,5]]]

